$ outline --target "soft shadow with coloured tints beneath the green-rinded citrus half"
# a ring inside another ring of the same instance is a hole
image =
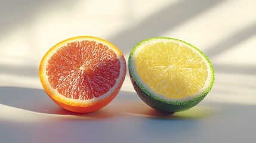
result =
[[[178,113],[164,113],[144,103],[135,92],[128,91],[121,91],[116,101],[107,108],[115,113],[125,113],[151,119],[200,119],[212,114],[211,108],[202,105]]]

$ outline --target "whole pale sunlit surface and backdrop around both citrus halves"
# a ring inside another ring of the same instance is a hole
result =
[[[0,142],[255,142],[256,1],[0,1]],[[199,105],[166,115],[138,98],[128,74],[107,107],[63,110],[38,77],[42,56],[91,35],[128,60],[139,41],[169,36],[198,46],[215,84]]]

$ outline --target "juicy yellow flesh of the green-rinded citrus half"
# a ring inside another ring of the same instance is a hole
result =
[[[191,48],[178,42],[156,42],[135,55],[138,75],[147,86],[166,98],[196,94],[208,77],[207,66]]]

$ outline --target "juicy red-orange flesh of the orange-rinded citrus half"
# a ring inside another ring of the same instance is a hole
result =
[[[76,41],[51,55],[46,74],[50,85],[64,97],[90,100],[115,85],[120,67],[117,55],[106,45]]]

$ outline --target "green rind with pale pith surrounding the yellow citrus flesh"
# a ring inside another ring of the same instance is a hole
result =
[[[143,83],[139,82],[137,76],[135,76],[134,67],[132,67],[132,65],[131,65],[132,64],[132,57],[133,57],[135,51],[137,50],[137,48],[141,44],[143,44],[144,42],[152,41],[153,39],[171,39],[171,40],[174,40],[174,41],[185,43],[186,45],[190,45],[191,47],[195,48],[198,52],[201,53],[201,55],[203,55],[203,57],[205,57],[206,61],[208,61],[208,64],[210,66],[210,70],[211,70],[210,80],[211,81],[210,81],[210,84],[209,84],[208,88],[204,89],[202,91],[201,95],[198,95],[196,97],[190,98],[189,100],[167,101],[167,100],[159,98],[156,95],[154,95],[153,93],[149,92],[143,86]],[[158,37],[158,38],[145,39],[145,40],[141,41],[140,43],[138,43],[137,45],[135,45],[134,48],[132,48],[131,53],[129,54],[128,70],[129,70],[129,76],[130,76],[132,85],[133,85],[135,91],[137,92],[138,96],[141,98],[141,100],[143,100],[144,102],[146,102],[146,104],[150,105],[150,107],[155,108],[156,110],[170,112],[170,113],[175,113],[177,111],[188,110],[189,108],[192,108],[195,105],[197,105],[199,102],[201,102],[203,100],[203,98],[205,98],[206,95],[209,93],[209,91],[211,91],[211,88],[212,88],[212,86],[214,84],[214,79],[215,79],[215,77],[214,77],[214,67],[211,64],[211,61],[209,61],[208,57],[206,57],[206,55],[203,54],[202,51],[200,51],[198,48],[196,48],[195,46],[191,45],[190,43],[181,41],[179,39],[166,38],[166,37]]]

